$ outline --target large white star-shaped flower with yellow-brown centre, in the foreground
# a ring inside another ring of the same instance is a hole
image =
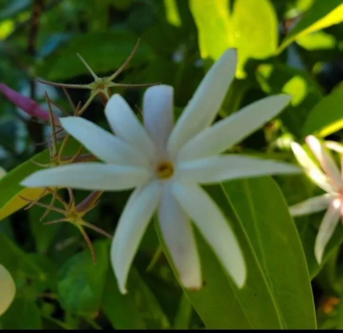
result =
[[[173,87],[146,90],[143,125],[125,100],[112,96],[105,108],[114,133],[80,117],[61,119],[64,129],[105,163],[77,163],[38,171],[24,186],[68,186],[120,191],[135,188],[121,214],[111,262],[122,293],[144,231],[157,211],[161,232],[182,285],[202,286],[192,220],[223,268],[242,287],[244,258],[230,224],[200,186],[227,179],[293,174],[297,166],[243,155],[221,155],[278,114],[290,100],[276,95],[253,103],[211,126],[234,78],[237,56],[226,51],[211,67],[174,125]]]

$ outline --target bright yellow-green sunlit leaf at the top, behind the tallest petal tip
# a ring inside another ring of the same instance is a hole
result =
[[[276,52],[278,21],[269,0],[235,1],[232,13],[229,4],[228,0],[191,0],[190,8],[202,58],[217,60],[227,48],[236,47],[236,76],[244,78],[243,68],[249,58],[265,59]]]

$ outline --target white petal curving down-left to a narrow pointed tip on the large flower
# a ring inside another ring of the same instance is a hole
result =
[[[126,280],[138,246],[161,197],[157,181],[137,187],[127,201],[111,245],[111,264],[119,290],[126,293]]]

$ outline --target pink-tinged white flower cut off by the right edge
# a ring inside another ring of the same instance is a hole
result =
[[[337,151],[343,157],[343,147],[333,141],[321,143],[313,135],[308,135],[305,141],[322,169],[313,162],[303,147],[296,142],[291,144],[293,153],[306,175],[326,193],[295,204],[289,207],[289,210],[292,216],[302,216],[327,209],[314,246],[314,253],[317,262],[320,264],[325,246],[335,231],[340,217],[343,218],[343,165],[341,165],[342,171],[340,172],[326,148]]]

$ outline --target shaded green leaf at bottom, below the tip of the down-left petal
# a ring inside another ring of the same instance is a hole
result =
[[[168,329],[168,318],[152,291],[142,280],[135,267],[130,270],[128,290],[122,295],[112,269],[108,270],[103,293],[103,311],[117,330]]]

